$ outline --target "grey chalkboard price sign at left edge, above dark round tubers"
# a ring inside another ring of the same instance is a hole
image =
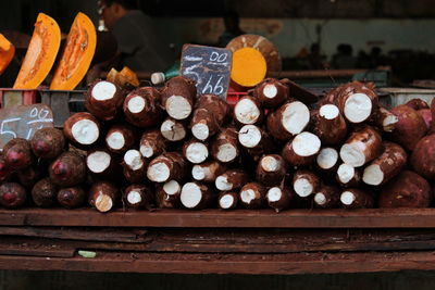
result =
[[[0,149],[13,138],[29,140],[35,131],[53,127],[53,112],[45,104],[18,105],[0,110]]]

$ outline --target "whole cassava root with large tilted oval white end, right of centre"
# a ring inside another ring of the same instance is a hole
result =
[[[268,115],[268,131],[278,140],[288,140],[300,134],[310,122],[310,111],[299,101],[283,104]]]

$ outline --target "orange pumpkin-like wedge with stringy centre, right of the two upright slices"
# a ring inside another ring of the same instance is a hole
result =
[[[96,46],[96,28],[89,17],[79,12],[71,26],[50,89],[73,90],[89,70]]]

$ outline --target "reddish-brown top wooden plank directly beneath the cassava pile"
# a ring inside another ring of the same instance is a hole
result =
[[[435,209],[157,210],[102,214],[91,209],[0,210],[0,226],[167,227],[167,228],[434,228]]]

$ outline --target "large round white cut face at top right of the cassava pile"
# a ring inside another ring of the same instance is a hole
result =
[[[345,116],[351,123],[361,123],[372,113],[372,100],[365,93],[353,93],[345,103]]]

